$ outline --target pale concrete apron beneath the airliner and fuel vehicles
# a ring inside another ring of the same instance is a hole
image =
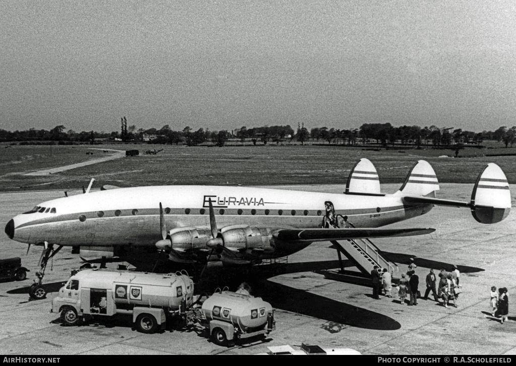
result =
[[[399,185],[384,185],[393,192]],[[298,190],[341,192],[342,186],[278,187]],[[468,201],[473,185],[441,184],[439,197]],[[0,222],[47,199],[63,196],[61,191],[1,193]],[[513,200],[514,201],[514,200]],[[514,205],[514,202],[513,202]],[[276,330],[266,342],[253,341],[231,348],[212,343],[196,328],[168,329],[162,334],[144,335],[131,322],[119,319],[79,327],[65,327],[59,314],[50,313],[56,293],[40,301],[28,301],[28,286],[41,254],[40,247],[27,246],[0,236],[0,258],[21,257],[30,269],[24,281],[0,282],[0,354],[257,354],[267,346],[301,343],[322,348],[353,348],[372,355],[501,355],[516,354],[516,317],[509,303],[509,320],[501,324],[491,316],[491,286],[507,287],[509,299],[516,288],[514,225],[516,214],[498,224],[477,223],[468,209],[434,207],[422,217],[388,227],[433,227],[431,235],[376,239],[374,243],[407,271],[408,259],[415,256],[420,291],[425,291],[429,268],[457,264],[464,292],[457,308],[444,308],[433,300],[418,300],[417,306],[401,305],[397,297],[372,297],[369,287],[326,279],[316,271],[337,268],[337,255],[329,243],[314,243],[288,257],[278,268],[254,266],[248,277],[227,273],[220,266],[208,267],[204,277],[210,286],[227,280],[231,290],[241,279],[249,280],[253,294],[275,308]],[[78,268],[80,258],[63,248],[49,263],[44,283],[57,291]],[[116,268],[117,263],[108,263]],[[196,285],[197,286],[197,285]],[[393,294],[396,292],[393,289]],[[431,296],[430,296],[431,298]]]

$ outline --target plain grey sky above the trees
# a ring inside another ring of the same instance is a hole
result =
[[[516,125],[513,0],[3,0],[0,128]]]

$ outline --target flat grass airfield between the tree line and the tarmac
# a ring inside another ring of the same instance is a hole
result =
[[[90,149],[91,147],[97,149]],[[34,189],[78,189],[95,178],[94,187],[110,184],[120,187],[149,185],[295,185],[343,184],[360,158],[371,160],[380,182],[401,184],[412,164],[430,162],[441,182],[473,183],[488,162],[500,165],[509,182],[516,182],[516,148],[466,148],[459,158],[451,150],[399,148],[380,149],[318,145],[260,146],[171,146],[171,145],[81,145],[0,146],[1,191]],[[124,157],[45,176],[23,176],[31,171],[73,164],[103,155],[102,149],[139,149],[140,156]],[[145,155],[147,149],[164,151]],[[93,155],[86,155],[91,151]]]

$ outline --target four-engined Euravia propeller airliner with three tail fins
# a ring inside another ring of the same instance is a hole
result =
[[[504,220],[511,208],[507,178],[494,163],[478,175],[470,202],[437,198],[439,182],[425,160],[413,165],[393,194],[380,193],[378,173],[367,159],[354,165],[343,194],[219,186],[111,186],[90,192],[92,182],[83,188],[86,194],[65,192],[7,223],[10,239],[44,246],[40,282],[46,262],[63,246],[103,257],[119,249],[152,248],[178,263],[250,265],[313,242],[428,234],[434,229],[381,227],[436,205],[470,208],[483,224]]]

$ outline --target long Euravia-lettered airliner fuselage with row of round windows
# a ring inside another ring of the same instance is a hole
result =
[[[328,201],[336,215],[342,215],[356,227],[391,224],[426,213],[432,207],[406,206],[399,194],[332,194],[217,186],[119,188],[43,202],[37,212],[14,217],[13,232],[8,235],[29,244],[153,246],[161,239],[160,203],[168,229],[209,228],[209,200],[218,228],[235,224],[317,228],[321,227]]]

